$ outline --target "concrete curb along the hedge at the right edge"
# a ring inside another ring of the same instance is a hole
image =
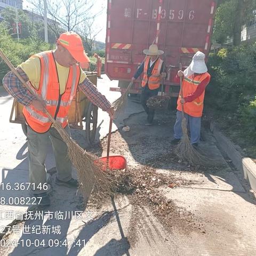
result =
[[[210,121],[210,130],[221,150],[231,159],[236,169],[244,173],[244,178],[249,181],[251,188],[256,192],[256,164],[251,158],[239,153],[234,143],[223,135],[212,121]]]

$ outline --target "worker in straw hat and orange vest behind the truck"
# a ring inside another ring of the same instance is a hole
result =
[[[134,82],[143,73],[141,105],[148,115],[146,125],[151,126],[153,125],[155,110],[148,108],[147,100],[158,94],[161,79],[166,77],[163,60],[159,58],[159,55],[164,54],[164,51],[158,50],[157,45],[153,44],[150,45],[149,49],[143,50],[143,53],[147,56],[131,81]]]

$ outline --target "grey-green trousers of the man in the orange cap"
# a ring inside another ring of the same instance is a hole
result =
[[[66,132],[70,135],[70,129],[67,125]],[[70,135],[71,137],[71,135]],[[68,148],[66,143],[60,137],[58,131],[51,127],[45,133],[37,133],[28,126],[28,161],[29,161],[29,182],[35,183],[34,194],[39,194],[49,190],[43,187],[46,183],[45,159],[49,151],[49,142],[52,142],[52,149],[56,163],[57,178],[61,181],[69,181],[71,176],[72,164],[68,157]],[[42,185],[42,189],[40,187]],[[31,187],[34,188],[34,187]],[[39,189],[38,189],[39,188]]]

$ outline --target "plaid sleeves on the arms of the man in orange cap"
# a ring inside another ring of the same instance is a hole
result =
[[[28,76],[21,68],[17,68],[17,71],[26,82],[29,81]],[[11,71],[3,78],[3,85],[5,90],[24,106],[30,105],[31,102],[36,99]],[[87,77],[78,86],[94,105],[101,108],[103,111],[110,109],[111,105],[109,101]]]

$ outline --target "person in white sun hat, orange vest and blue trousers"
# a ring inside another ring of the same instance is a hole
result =
[[[190,129],[190,141],[195,147],[198,146],[200,140],[201,130],[201,117],[203,115],[204,108],[204,94],[207,84],[209,84],[211,76],[207,73],[207,67],[205,65],[205,55],[202,52],[197,52],[189,67],[182,72],[178,71],[177,82],[179,77],[183,77],[182,92],[179,94],[177,102],[177,119],[174,124],[174,139],[173,144],[179,143],[182,137],[182,105],[186,120]]]

